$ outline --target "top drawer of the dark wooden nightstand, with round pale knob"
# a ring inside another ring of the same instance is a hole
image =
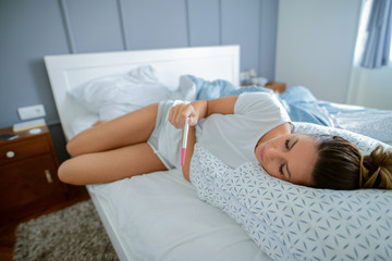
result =
[[[45,152],[50,152],[50,145],[46,136],[34,139],[15,140],[15,142],[0,147],[0,165]]]

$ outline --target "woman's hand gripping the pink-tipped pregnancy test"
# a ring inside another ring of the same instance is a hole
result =
[[[186,119],[189,117],[189,126],[195,126],[199,120],[199,113],[195,110],[192,103],[177,104],[170,109],[169,122],[175,128],[183,128],[185,126]]]

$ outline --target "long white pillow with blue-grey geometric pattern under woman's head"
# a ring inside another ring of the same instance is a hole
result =
[[[313,124],[295,126],[303,133],[328,130]],[[363,150],[378,144],[350,132],[340,135],[358,141]],[[392,191],[293,185],[268,175],[258,164],[230,169],[198,144],[191,179],[200,199],[235,219],[273,260],[392,257]]]

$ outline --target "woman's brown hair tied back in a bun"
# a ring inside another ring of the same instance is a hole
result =
[[[332,189],[392,188],[392,151],[378,146],[363,157],[357,147],[339,136],[317,136],[318,159],[314,186]]]

